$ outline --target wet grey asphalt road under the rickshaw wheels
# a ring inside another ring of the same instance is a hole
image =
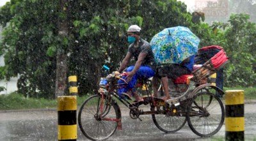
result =
[[[245,104],[245,140],[256,140],[256,103]],[[122,110],[124,110],[122,108]],[[201,138],[184,126],[173,134],[156,128],[150,115],[141,115],[143,121],[131,119],[122,112],[122,131],[116,131],[109,140],[225,140],[225,125],[212,138]],[[0,111],[0,140],[58,140],[56,110]],[[88,140],[78,129],[77,140]]]

